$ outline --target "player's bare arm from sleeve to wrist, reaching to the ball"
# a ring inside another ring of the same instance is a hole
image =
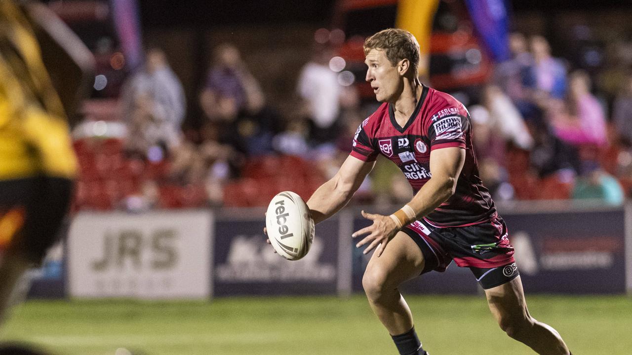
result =
[[[349,155],[336,175],[307,201],[314,222],[322,222],[343,208],[374,166],[375,162],[363,162]]]

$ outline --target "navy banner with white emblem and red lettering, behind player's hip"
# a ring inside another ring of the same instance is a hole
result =
[[[526,292],[625,292],[623,209],[502,217]]]

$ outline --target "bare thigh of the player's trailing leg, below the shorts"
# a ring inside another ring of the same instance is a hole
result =
[[[489,310],[502,328],[530,318],[520,276],[485,290]]]

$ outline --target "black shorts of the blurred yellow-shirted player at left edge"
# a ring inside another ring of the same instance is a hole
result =
[[[0,250],[24,253],[39,265],[59,239],[72,189],[73,182],[65,178],[0,181]]]

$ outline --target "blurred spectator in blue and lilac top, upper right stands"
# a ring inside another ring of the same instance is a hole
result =
[[[533,67],[528,73],[526,84],[534,90],[533,100],[545,105],[547,99],[563,99],[566,95],[566,68],[551,56],[549,42],[542,36],[533,36],[530,41]]]

